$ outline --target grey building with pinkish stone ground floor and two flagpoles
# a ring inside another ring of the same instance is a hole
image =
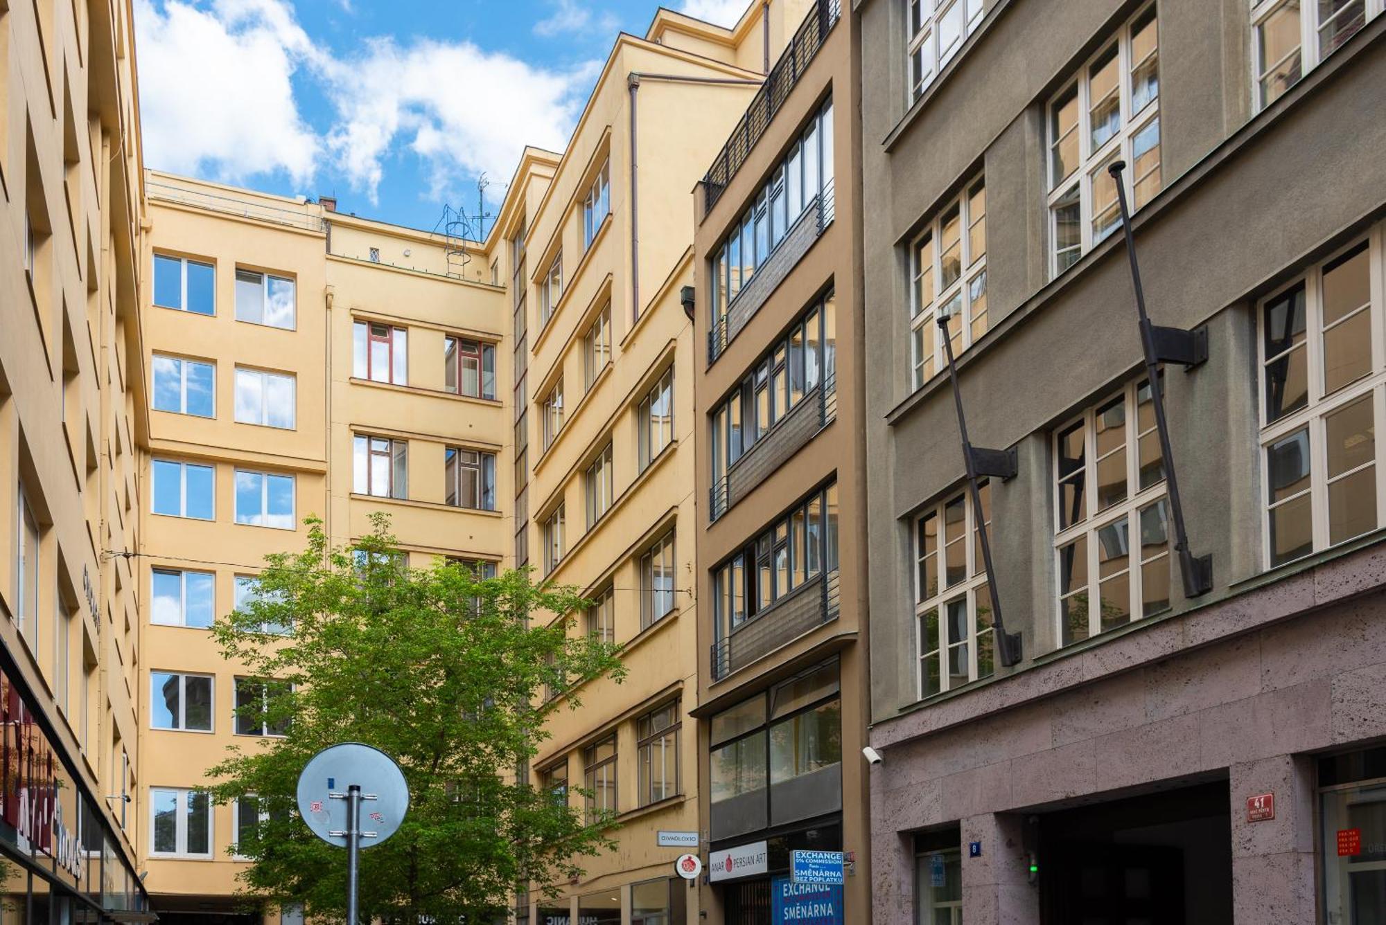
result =
[[[857,11],[875,921],[1386,922],[1383,4]]]

